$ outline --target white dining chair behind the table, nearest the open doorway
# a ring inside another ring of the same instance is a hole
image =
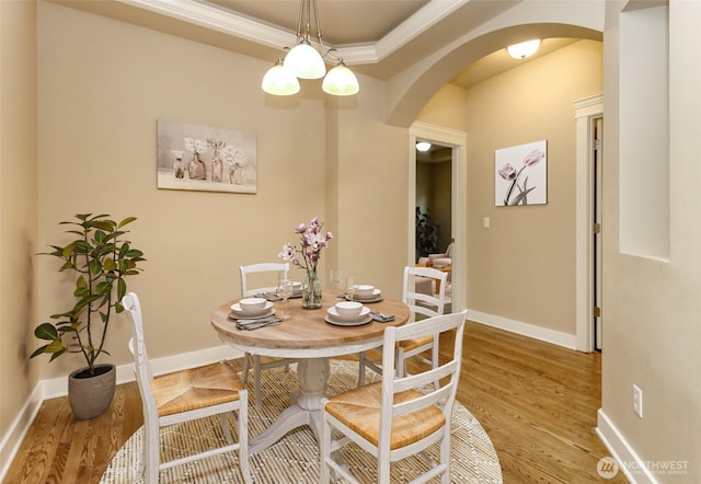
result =
[[[430,283],[427,292],[416,290],[416,278]],[[404,267],[402,302],[409,306],[411,318],[407,324],[425,321],[444,314],[446,309],[446,281],[448,273],[433,267]],[[433,288],[438,288],[434,292]],[[404,341],[397,345],[397,370],[400,376],[406,372],[406,359],[414,357],[420,361],[436,367],[438,365],[438,345],[430,337],[422,337]],[[430,359],[424,357],[424,352],[430,350]],[[379,361],[370,360],[367,353],[361,352],[358,357],[358,385],[365,384],[365,369],[369,368],[378,374],[382,374]]]

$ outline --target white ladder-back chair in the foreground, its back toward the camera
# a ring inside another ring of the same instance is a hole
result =
[[[426,472],[412,482],[438,475],[441,483],[450,482],[450,416],[460,378],[467,312],[387,327],[382,380],[322,401],[321,483],[327,483],[332,474],[334,482],[341,477],[350,483],[370,482],[371,476],[357,475],[361,466],[348,466],[343,461],[342,449],[350,442],[377,458],[377,483],[389,484],[390,464],[416,454],[426,460]],[[406,377],[388,371],[397,362],[398,344],[423,337],[438,341],[448,332],[455,332],[446,338],[452,342],[452,355],[443,365]],[[437,442],[440,456],[435,460],[424,450]]]

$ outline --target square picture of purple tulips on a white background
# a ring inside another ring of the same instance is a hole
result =
[[[533,141],[494,152],[494,205],[548,203],[548,141]]]

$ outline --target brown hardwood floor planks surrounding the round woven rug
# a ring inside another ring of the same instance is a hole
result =
[[[594,434],[600,367],[599,354],[468,323],[458,401],[492,439],[505,483],[627,482],[596,471],[608,456]],[[48,400],[4,482],[99,483],[141,424],[136,383],[118,385],[110,411],[92,420],[76,420],[67,397]]]

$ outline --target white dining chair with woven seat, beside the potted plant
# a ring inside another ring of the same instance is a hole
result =
[[[128,292],[122,304],[131,321],[129,350],[141,394],[143,410],[143,447],[139,474],[148,484],[159,482],[159,471],[225,452],[239,453],[243,481],[251,482],[249,468],[248,408],[249,393],[237,371],[227,361],[153,377],[143,336],[139,298]],[[235,412],[239,413],[237,418]],[[161,462],[160,429],[173,424],[219,415],[226,445]],[[231,435],[228,416],[233,419],[238,441]]]

